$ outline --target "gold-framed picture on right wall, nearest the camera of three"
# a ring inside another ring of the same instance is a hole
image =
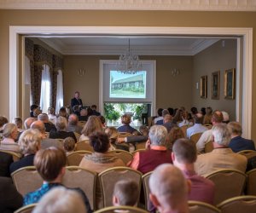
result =
[[[224,98],[235,99],[236,69],[232,68],[224,72]]]

